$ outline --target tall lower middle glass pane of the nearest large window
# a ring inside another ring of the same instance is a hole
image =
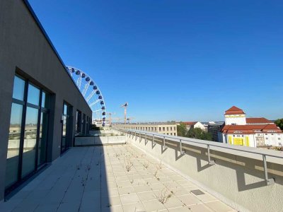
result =
[[[38,109],[27,107],[23,141],[22,177],[35,170]]]

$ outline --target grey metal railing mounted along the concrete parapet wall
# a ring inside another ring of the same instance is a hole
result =
[[[229,150],[233,150],[233,151],[241,151],[244,153],[253,153],[255,155],[261,155],[262,156],[262,163],[263,163],[263,169],[265,172],[265,182],[267,185],[270,184],[274,184],[275,183],[275,179],[274,178],[268,178],[268,171],[267,171],[267,161],[266,161],[266,156],[269,157],[273,157],[273,158],[281,158],[283,159],[283,155],[279,155],[279,154],[272,154],[272,153],[265,153],[262,150],[259,150],[257,148],[255,149],[243,149],[242,146],[231,146],[229,144],[226,143],[216,143],[214,141],[204,141],[204,140],[198,140],[198,139],[190,139],[190,138],[185,138],[185,137],[180,137],[180,136],[168,136],[166,134],[158,134],[158,133],[152,133],[152,132],[147,132],[147,131],[137,131],[137,130],[132,130],[132,129],[121,129],[121,128],[115,128],[113,127],[113,129],[116,129],[117,131],[122,131],[126,134],[126,136],[132,136],[132,139],[135,137],[135,140],[137,141],[137,136],[139,136],[139,141],[141,141],[142,136],[144,136],[145,141],[147,142],[147,137],[148,136],[152,136],[152,142],[154,143],[154,145],[156,144],[156,138],[161,139],[162,142],[162,146],[163,149],[168,148],[168,146],[166,146],[166,139],[176,142],[179,144],[179,148],[180,148],[180,154],[184,155],[185,151],[183,151],[183,146],[182,143],[186,143],[192,146],[199,146],[201,148],[205,148],[204,146],[206,146],[207,148],[207,161],[209,163],[209,165],[215,165],[215,160],[211,160],[210,157],[210,147],[214,146],[214,147],[218,147],[218,148],[224,148],[224,149],[229,149]],[[183,142],[185,141],[185,142]],[[262,151],[262,152],[260,152]],[[233,154],[233,153],[231,153]]]

